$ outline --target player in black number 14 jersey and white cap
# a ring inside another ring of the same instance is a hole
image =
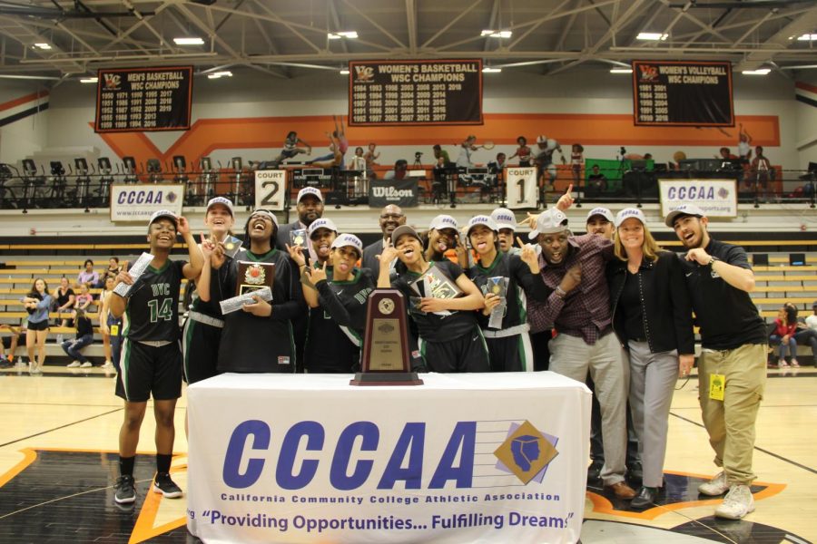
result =
[[[170,252],[181,234],[190,262],[170,260]],[[126,271],[116,276],[117,284],[128,284],[123,297],[115,291],[110,304],[113,316],[123,317],[122,371],[116,379],[116,394],[124,399],[124,423],[119,432],[119,471],[113,500],[125,504],[136,500],[133,461],[139,443],[147,401],[153,393],[156,417],[156,479],[153,491],[169,499],[182,496],[170,477],[173,454],[173,413],[182,396],[182,350],[179,347],[179,290],[182,276],[198,277],[204,257],[192,237],[187,219],[160,210],[148,223],[147,240],[153,261],[142,276],[133,279]]]

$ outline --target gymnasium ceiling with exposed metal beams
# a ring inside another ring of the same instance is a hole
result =
[[[350,31],[358,37],[328,36]],[[58,82],[192,64],[297,78],[349,60],[482,58],[545,75],[633,59],[730,60],[792,77],[817,67],[817,41],[796,39],[815,33],[817,0],[0,0],[0,75]],[[173,43],[182,36],[204,44]]]

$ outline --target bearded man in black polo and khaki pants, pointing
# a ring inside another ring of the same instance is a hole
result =
[[[766,325],[749,297],[754,274],[743,248],[709,236],[697,206],[683,204],[664,222],[687,249],[682,264],[702,346],[699,400],[715,465],[723,467],[698,491],[728,491],[715,516],[740,520],[754,510],[754,423],[766,384]]]

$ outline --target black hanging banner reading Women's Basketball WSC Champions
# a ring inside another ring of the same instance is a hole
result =
[[[349,126],[482,124],[482,61],[353,61]]]

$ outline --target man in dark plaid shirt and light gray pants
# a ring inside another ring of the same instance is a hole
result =
[[[624,354],[613,334],[605,265],[613,256],[613,242],[593,234],[571,236],[560,209],[538,216],[529,237],[542,248],[539,266],[553,292],[546,304],[528,301],[533,332],[556,328],[550,341],[550,370],[596,383],[604,431],[605,487],[618,499],[633,499],[625,481],[627,371]]]

